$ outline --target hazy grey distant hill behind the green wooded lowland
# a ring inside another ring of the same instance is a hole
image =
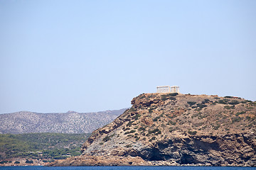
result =
[[[90,133],[112,122],[126,108],[97,113],[34,113],[21,111],[0,114],[0,133],[31,132]]]

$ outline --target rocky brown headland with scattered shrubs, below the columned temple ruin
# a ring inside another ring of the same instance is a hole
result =
[[[256,102],[242,98],[142,94],[81,156],[53,165],[255,166],[255,126]]]

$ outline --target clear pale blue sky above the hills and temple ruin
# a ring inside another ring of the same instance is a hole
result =
[[[0,113],[181,94],[256,101],[255,0],[0,0]]]

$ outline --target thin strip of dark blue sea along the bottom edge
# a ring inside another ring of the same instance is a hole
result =
[[[256,170],[256,167],[212,166],[0,166],[0,170]]]

